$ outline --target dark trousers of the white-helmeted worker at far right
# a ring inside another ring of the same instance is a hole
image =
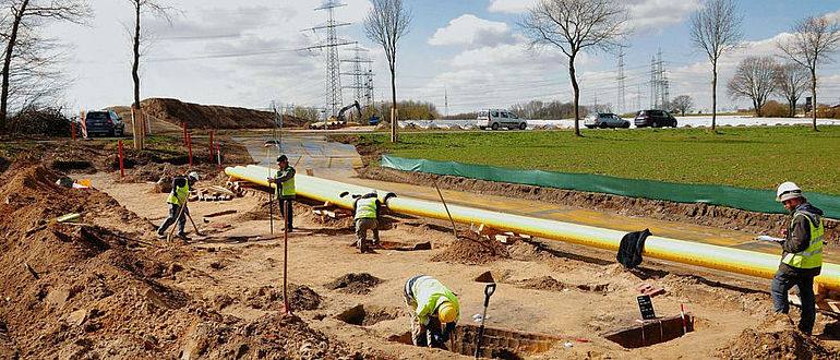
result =
[[[772,283],[770,283],[770,296],[773,299],[773,310],[787,314],[790,310],[788,303],[788,290],[792,287],[799,290],[802,300],[802,317],[799,328],[805,334],[811,334],[814,329],[814,319],[816,310],[814,309],[814,277],[807,275],[796,275],[781,269],[776,272]]]

